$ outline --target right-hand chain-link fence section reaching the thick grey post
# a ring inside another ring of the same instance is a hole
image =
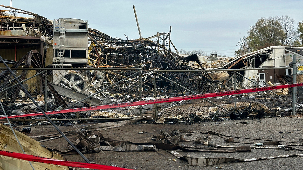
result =
[[[215,71],[215,70],[214,70]],[[256,70],[258,73],[258,70]],[[262,77],[256,76],[254,79],[245,77],[244,71],[228,72],[226,80],[214,82],[190,73],[161,72],[156,78],[158,97],[173,97],[192,95],[198,93],[213,93],[228,90],[241,90],[255,87],[275,86],[281,84],[291,84],[292,75],[278,76],[274,82],[261,81]],[[183,76],[187,75],[187,76]],[[298,74],[297,74],[298,75]],[[170,83],[165,87],[161,86],[165,77],[170,78]],[[190,78],[191,77],[191,78]],[[261,83],[260,83],[261,82]],[[297,81],[299,82],[299,80]],[[300,87],[297,89],[300,89]],[[164,93],[163,93],[164,91]],[[301,92],[298,90],[297,97]],[[300,100],[298,103],[301,102]],[[243,93],[236,95],[218,96],[208,99],[183,100],[173,103],[160,103],[157,106],[158,123],[184,121],[220,121],[226,119],[244,118],[269,118],[290,115],[292,110],[292,88],[276,89],[270,91],[260,91],[253,93]],[[301,106],[298,106],[301,109]],[[300,111],[300,110],[299,110]]]

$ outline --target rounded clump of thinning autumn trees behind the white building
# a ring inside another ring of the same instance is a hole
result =
[[[299,23],[301,23],[301,40],[303,42],[303,22]],[[250,26],[247,31],[248,36],[240,39],[237,44],[239,49],[235,51],[235,55],[241,56],[269,46],[297,45],[297,31],[295,31],[294,26],[295,19],[289,18],[287,15],[260,18],[255,25]]]

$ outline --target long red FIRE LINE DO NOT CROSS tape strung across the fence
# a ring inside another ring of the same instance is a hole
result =
[[[216,93],[196,94],[196,95],[170,97],[170,98],[155,99],[155,100],[144,100],[144,101],[127,102],[127,103],[107,104],[107,105],[101,105],[101,106],[81,107],[81,108],[76,108],[76,109],[54,110],[54,111],[45,112],[45,114],[50,115],[50,114],[58,114],[58,113],[81,112],[81,111],[109,109],[109,108],[116,108],[116,107],[175,102],[175,101],[181,101],[181,100],[192,100],[192,99],[202,99],[202,98],[208,98],[208,97],[227,96],[227,95],[233,95],[233,94],[251,93],[251,92],[257,92],[257,91],[283,89],[283,88],[297,87],[297,86],[303,86],[303,83],[285,84],[285,85],[269,86],[269,87],[258,87],[258,88],[243,89],[243,90],[222,91],[222,92],[216,92]],[[39,115],[43,115],[43,114],[41,112],[39,112],[39,113],[28,113],[28,114],[23,114],[23,115],[12,115],[12,116],[7,116],[7,117],[16,118],[16,117],[27,117],[27,116],[39,116]],[[0,119],[5,119],[5,116],[0,116]]]

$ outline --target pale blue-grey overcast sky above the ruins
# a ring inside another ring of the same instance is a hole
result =
[[[1,0],[10,6],[10,0]],[[12,0],[12,7],[31,11],[48,19],[88,20],[89,27],[112,37],[139,37],[132,5],[135,5],[143,38],[169,32],[178,50],[217,50],[233,57],[240,38],[261,17],[288,15],[303,20],[303,1],[57,1]],[[1,7],[0,10],[5,8]],[[125,35],[124,35],[125,34]]]

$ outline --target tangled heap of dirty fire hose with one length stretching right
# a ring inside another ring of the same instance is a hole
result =
[[[175,137],[175,136],[172,136]],[[172,138],[169,137],[169,138]],[[167,139],[167,140],[166,140]],[[170,141],[169,144],[164,141]],[[180,145],[176,145],[174,142],[171,142],[168,138],[159,140],[157,142],[143,142],[143,143],[134,143],[134,142],[125,142],[118,141],[112,138],[104,138],[103,135],[95,130],[85,131],[72,140],[73,144],[79,149],[80,152],[84,153],[98,153],[100,150],[108,151],[157,151],[157,149],[163,150],[182,150],[187,152],[250,152],[250,146],[238,146],[235,148],[185,148]],[[149,149],[148,149],[149,148]],[[152,149],[151,149],[152,148]],[[68,145],[68,151],[59,151],[62,155],[75,154],[75,150]]]

